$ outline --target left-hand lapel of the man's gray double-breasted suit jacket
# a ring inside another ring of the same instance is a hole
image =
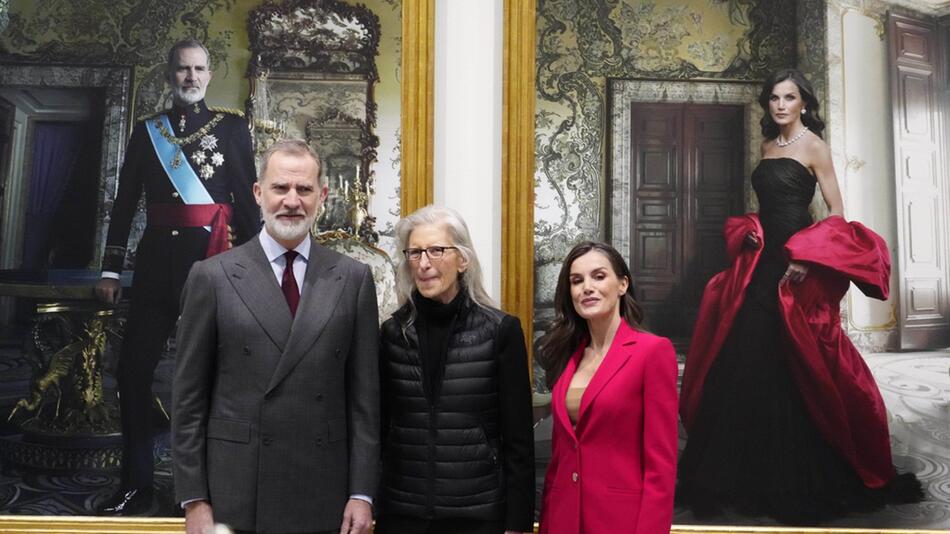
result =
[[[291,316],[274,270],[256,237],[235,252],[238,250],[243,254],[229,254],[221,260],[228,280],[267,336],[283,352],[290,335]]]

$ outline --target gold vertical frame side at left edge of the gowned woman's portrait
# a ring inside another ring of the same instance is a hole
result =
[[[535,0],[505,0],[501,155],[501,306],[534,337]]]

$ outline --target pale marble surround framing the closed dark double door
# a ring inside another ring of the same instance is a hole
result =
[[[759,160],[759,146],[762,134],[759,119],[762,108],[759,107],[758,83],[729,82],[669,82],[649,80],[609,80],[610,96],[610,135],[612,175],[607,177],[610,183],[610,243],[623,254],[630,263],[630,188],[633,176],[630,168],[630,125],[631,104],[634,102],[693,103],[693,104],[733,104],[745,108],[745,173],[746,177]],[[746,207],[754,204],[752,188],[745,181]]]

